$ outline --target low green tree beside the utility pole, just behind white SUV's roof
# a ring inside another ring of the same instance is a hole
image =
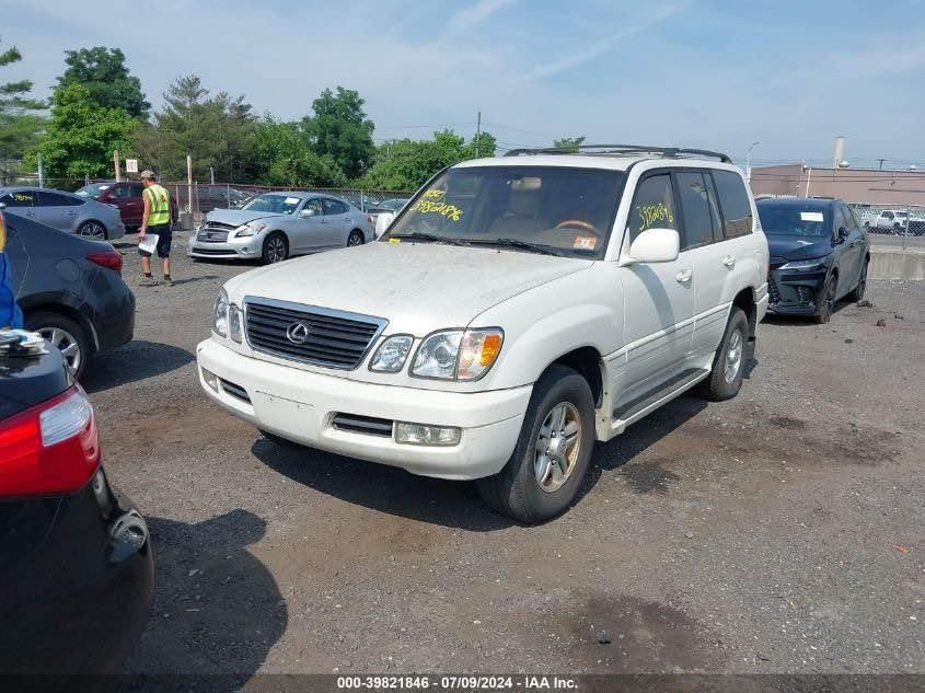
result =
[[[495,153],[495,137],[482,132],[478,143],[479,157]],[[416,190],[435,173],[475,155],[475,141],[452,130],[433,134],[433,139],[414,141],[411,139],[386,142],[379,147],[375,164],[362,183],[366,187],[390,190]]]

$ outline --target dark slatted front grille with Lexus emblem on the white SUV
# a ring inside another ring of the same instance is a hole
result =
[[[247,342],[257,351],[352,370],[388,321],[289,301],[244,299]]]

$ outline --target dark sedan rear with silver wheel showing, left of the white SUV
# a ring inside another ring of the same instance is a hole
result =
[[[135,296],[122,279],[122,255],[103,241],[15,215],[3,219],[25,324],[55,345],[80,379],[99,351],[131,340]]]

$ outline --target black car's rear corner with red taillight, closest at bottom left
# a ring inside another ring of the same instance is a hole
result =
[[[65,690],[83,689],[135,647],[153,558],[144,519],[103,472],[93,408],[54,349],[0,354],[0,672],[80,673]]]

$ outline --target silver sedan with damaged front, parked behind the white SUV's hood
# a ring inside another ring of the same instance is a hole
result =
[[[373,240],[352,205],[320,193],[263,193],[240,209],[215,209],[189,236],[190,257],[282,262]]]

